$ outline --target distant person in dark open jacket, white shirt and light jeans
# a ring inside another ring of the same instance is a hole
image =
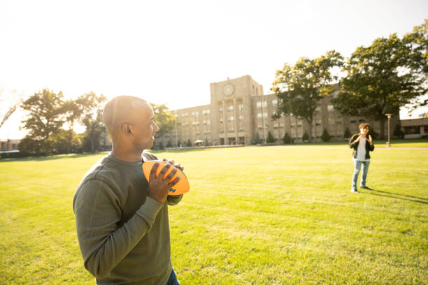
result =
[[[352,175],[352,188],[351,192],[359,193],[357,190],[357,179],[359,170],[362,169],[361,179],[359,183],[360,189],[373,190],[366,185],[367,173],[369,172],[370,165],[370,152],[373,152],[374,145],[373,139],[369,133],[370,125],[367,123],[359,124],[359,133],[353,135],[349,140],[349,147],[354,149],[352,152],[352,160],[354,161],[354,174]]]

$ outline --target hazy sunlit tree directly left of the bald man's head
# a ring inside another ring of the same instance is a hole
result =
[[[103,94],[98,96],[94,92],[85,93],[76,100],[82,108],[80,123],[86,127],[83,136],[83,150],[86,152],[99,150],[101,136],[107,133],[103,123],[103,108],[106,101],[106,96]]]

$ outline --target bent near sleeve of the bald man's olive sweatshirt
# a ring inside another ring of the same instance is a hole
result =
[[[100,180],[82,184],[73,198],[73,211],[85,268],[97,278],[106,277],[150,231],[163,206],[147,197],[119,227],[122,210],[115,191]]]

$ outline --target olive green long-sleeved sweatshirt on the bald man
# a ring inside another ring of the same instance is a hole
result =
[[[183,196],[168,196],[165,204],[148,197],[141,164],[108,154],[74,194],[80,251],[97,284],[166,284],[171,274],[168,205]]]

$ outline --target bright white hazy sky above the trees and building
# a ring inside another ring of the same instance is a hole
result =
[[[171,110],[206,105],[211,82],[251,75],[269,94],[285,63],[327,50],[349,57],[425,18],[422,0],[0,0],[0,91],[127,94]],[[0,138],[21,138],[22,116],[15,112]]]

